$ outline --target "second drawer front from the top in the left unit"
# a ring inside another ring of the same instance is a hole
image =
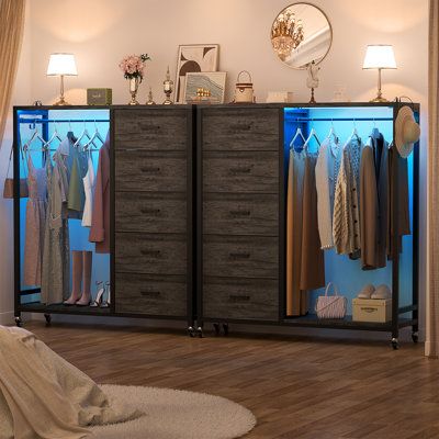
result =
[[[185,192],[187,173],[185,153],[116,153],[116,191]]]

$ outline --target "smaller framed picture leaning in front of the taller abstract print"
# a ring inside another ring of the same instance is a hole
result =
[[[189,71],[185,75],[183,102],[196,101],[200,99],[196,92],[202,89],[209,93],[206,99],[212,103],[224,103],[226,88],[225,71]]]

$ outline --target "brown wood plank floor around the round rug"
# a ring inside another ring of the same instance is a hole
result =
[[[439,361],[420,345],[393,351],[378,341],[25,327],[99,383],[207,392],[245,405],[258,418],[246,439],[439,438]]]

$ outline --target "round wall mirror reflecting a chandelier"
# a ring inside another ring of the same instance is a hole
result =
[[[271,45],[288,66],[305,69],[320,63],[333,43],[333,29],[325,13],[309,3],[283,9],[271,26]]]

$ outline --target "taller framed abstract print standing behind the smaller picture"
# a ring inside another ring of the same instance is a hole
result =
[[[218,53],[218,44],[189,44],[179,46],[177,58],[176,102],[183,102],[187,74],[217,70]]]

